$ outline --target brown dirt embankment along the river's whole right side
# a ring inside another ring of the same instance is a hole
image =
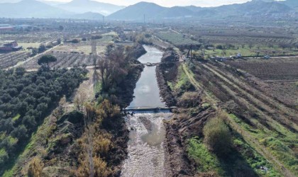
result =
[[[174,51],[167,51],[162,62],[156,68],[160,95],[168,106],[178,105],[180,96],[175,94],[168,85],[177,79],[179,64],[175,61],[179,55]],[[203,96],[202,96],[203,97]],[[214,116],[215,110],[202,105],[196,108],[178,108],[174,110],[174,118],[165,121],[165,169],[167,176],[194,176],[197,169],[194,161],[187,155],[187,139],[202,136],[202,127],[206,120]],[[179,106],[180,107],[180,106]],[[192,113],[189,115],[189,113]]]

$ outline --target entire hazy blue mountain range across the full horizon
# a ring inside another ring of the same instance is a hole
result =
[[[241,16],[278,16],[298,13],[298,0],[273,1],[253,0],[244,4],[231,4],[202,8],[198,6],[174,6],[140,2],[128,7],[106,4],[93,0],[73,0],[69,3],[45,0],[9,0],[0,3],[0,17],[6,18],[84,18],[109,20],[143,21],[168,18],[233,18]],[[16,2],[18,1],[18,2]],[[102,15],[101,15],[102,14]]]

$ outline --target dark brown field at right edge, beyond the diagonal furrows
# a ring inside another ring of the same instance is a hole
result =
[[[227,64],[253,75],[261,89],[278,100],[298,106],[298,58],[247,59]]]

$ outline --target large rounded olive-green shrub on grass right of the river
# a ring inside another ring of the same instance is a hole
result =
[[[223,122],[222,115],[209,120],[203,129],[204,142],[218,156],[226,156],[231,151],[231,132]]]

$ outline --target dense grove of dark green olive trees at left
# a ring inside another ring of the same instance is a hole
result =
[[[23,68],[0,70],[0,166],[26,144],[55,103],[70,96],[86,74],[83,68],[44,66],[32,73]]]

